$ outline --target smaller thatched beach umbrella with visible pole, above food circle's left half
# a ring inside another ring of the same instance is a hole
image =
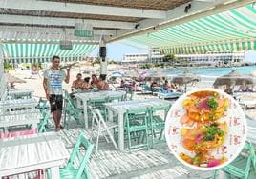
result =
[[[178,84],[178,85],[184,85],[185,92],[186,92],[187,84],[193,83],[193,82],[199,82],[199,81],[200,81],[200,76],[188,71],[185,71],[177,76],[174,76],[172,79],[172,83]]]

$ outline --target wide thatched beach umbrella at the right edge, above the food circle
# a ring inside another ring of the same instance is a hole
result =
[[[230,73],[218,77],[213,86],[232,86],[232,85],[249,85],[254,84],[253,79],[245,74],[239,73],[237,70],[232,70]]]

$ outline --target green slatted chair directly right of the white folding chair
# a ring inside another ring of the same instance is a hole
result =
[[[142,147],[149,149],[147,124],[148,109],[127,109],[124,115],[124,130],[128,136],[128,149],[137,149]],[[138,142],[133,145],[132,140],[137,140]]]

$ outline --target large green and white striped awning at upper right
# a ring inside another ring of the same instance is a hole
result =
[[[247,5],[128,40],[175,54],[256,50],[256,10]]]

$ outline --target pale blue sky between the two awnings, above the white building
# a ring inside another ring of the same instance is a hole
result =
[[[98,48],[96,48],[91,53],[91,56],[98,56],[98,51]],[[107,58],[115,61],[121,61],[124,53],[148,53],[148,46],[128,46],[124,41],[107,44]]]

